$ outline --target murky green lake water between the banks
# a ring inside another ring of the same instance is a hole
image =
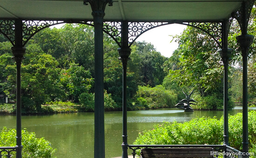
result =
[[[238,106],[230,115],[242,112]],[[196,116],[220,118],[222,111],[184,112],[176,108],[128,112],[128,144],[133,144],[139,132],[152,130],[155,124],[163,121],[189,121]],[[0,127],[16,127],[15,116],[0,116]],[[57,158],[94,157],[94,113],[61,113],[46,116],[22,116],[22,128],[45,137],[57,148]],[[105,112],[105,151],[106,158],[122,155],[122,112]],[[128,153],[131,151],[128,150]]]

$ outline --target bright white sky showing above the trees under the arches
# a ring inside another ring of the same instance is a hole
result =
[[[52,27],[60,28],[63,24],[55,25]],[[176,42],[170,43],[172,38],[169,35],[181,34],[186,28],[185,25],[170,24],[165,26],[159,26],[142,33],[136,41],[146,41],[155,46],[156,51],[160,52],[165,57],[170,57],[172,53],[177,49],[178,44]]]

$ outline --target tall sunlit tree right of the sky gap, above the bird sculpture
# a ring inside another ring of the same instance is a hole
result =
[[[178,85],[197,87],[201,96],[221,95],[222,64],[215,41],[194,27],[187,27],[176,38],[179,47],[173,59],[179,59],[175,66],[178,69],[169,70],[173,81]]]

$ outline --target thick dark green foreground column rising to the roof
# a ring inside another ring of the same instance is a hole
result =
[[[105,158],[104,76],[103,76],[103,17],[112,0],[84,0],[92,8],[94,18],[94,158]]]

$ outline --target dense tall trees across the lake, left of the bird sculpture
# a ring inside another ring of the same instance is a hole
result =
[[[0,94],[15,101],[16,69],[11,59],[12,45],[4,36],[0,37]],[[59,29],[46,28],[37,33],[26,47],[21,67],[24,112],[40,112],[41,104],[67,100],[81,102],[84,109],[93,111],[93,27],[66,24]],[[104,34],[104,88],[107,110],[121,110],[122,105],[122,65],[121,60],[118,60],[117,48],[115,41]],[[133,102],[138,86],[154,87],[162,84],[167,74],[162,71],[162,64],[167,58],[146,42],[136,43],[130,57],[127,77],[128,100]]]

